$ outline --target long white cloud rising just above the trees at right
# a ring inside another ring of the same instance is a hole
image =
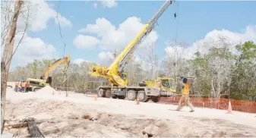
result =
[[[201,52],[202,54],[207,54],[210,48],[213,46],[220,48],[223,45],[220,43],[220,39],[228,45],[231,52],[235,52],[235,45],[240,42],[245,42],[248,40],[256,42],[256,25],[247,26],[242,33],[235,33],[229,30],[213,30],[204,37],[204,39],[194,42],[187,48],[180,45],[169,46],[165,49],[165,53],[169,57],[174,57],[175,55],[182,56],[182,58],[192,58],[195,52]]]

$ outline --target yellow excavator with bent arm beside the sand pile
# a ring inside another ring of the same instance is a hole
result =
[[[52,77],[49,77],[49,72],[62,63],[64,64],[64,72],[68,68],[70,58],[70,55],[68,55],[67,57],[60,58],[57,61],[50,64],[49,67],[46,68],[44,76],[40,77],[40,79],[28,78],[27,81],[30,82],[30,91],[36,91],[38,89],[43,88],[44,86],[52,86]]]

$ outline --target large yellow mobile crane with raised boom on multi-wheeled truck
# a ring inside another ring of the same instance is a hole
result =
[[[170,0],[162,5],[160,10],[144,25],[141,32],[125,47],[109,67],[93,67],[93,71],[89,73],[91,77],[104,77],[112,84],[112,86],[99,86],[97,88],[99,96],[112,97],[113,99],[125,99],[127,97],[129,100],[138,98],[141,102],[152,99],[153,102],[159,102],[161,96],[172,95],[172,92],[163,90],[161,87],[128,86],[127,75],[124,73],[125,65],[128,64],[134,50],[153,30],[156,20],[166,11],[169,5],[172,5]]]

